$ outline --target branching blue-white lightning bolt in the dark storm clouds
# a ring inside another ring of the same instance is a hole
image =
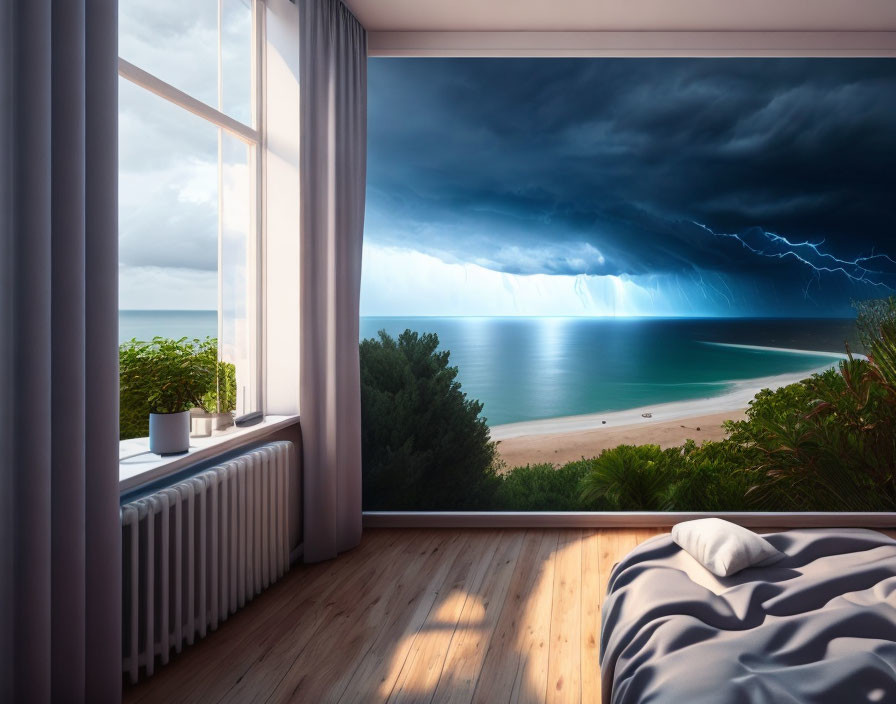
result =
[[[743,235],[738,233],[716,232],[709,226],[696,220],[691,220],[691,222],[714,237],[726,237],[740,242],[744,249],[758,256],[770,257],[772,259],[796,259],[812,270],[812,279],[810,279],[809,283],[812,280],[820,281],[822,273],[830,273],[842,274],[854,283],[877,286],[889,291],[896,290],[893,284],[890,283],[893,277],[896,276],[896,273],[872,268],[872,266],[875,266],[872,262],[877,262],[877,266],[886,263],[896,265],[896,259],[889,254],[877,253],[872,250],[870,254],[862,255],[855,259],[841,259],[821,249],[824,245],[824,240],[821,242],[791,242],[786,237],[767,230],[760,231],[761,237],[767,246],[756,246],[747,242]],[[809,284],[806,285],[805,293],[807,296],[809,295]]]

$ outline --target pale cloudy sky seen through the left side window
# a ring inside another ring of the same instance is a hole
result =
[[[224,0],[222,102],[251,125],[250,0]],[[217,3],[122,0],[119,54],[218,107]],[[225,309],[245,294],[252,179],[246,146],[226,135],[219,205],[218,129],[119,78],[119,307],[218,307],[218,211]]]

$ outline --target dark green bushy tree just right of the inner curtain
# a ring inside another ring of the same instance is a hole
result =
[[[500,479],[482,404],[461,391],[438,346],[436,335],[410,330],[361,342],[365,509],[492,505]]]

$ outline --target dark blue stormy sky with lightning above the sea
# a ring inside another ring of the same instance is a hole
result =
[[[887,59],[372,58],[362,315],[849,316],[894,115]]]

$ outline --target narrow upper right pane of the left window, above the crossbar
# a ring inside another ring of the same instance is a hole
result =
[[[252,2],[221,2],[221,112],[252,125]]]

